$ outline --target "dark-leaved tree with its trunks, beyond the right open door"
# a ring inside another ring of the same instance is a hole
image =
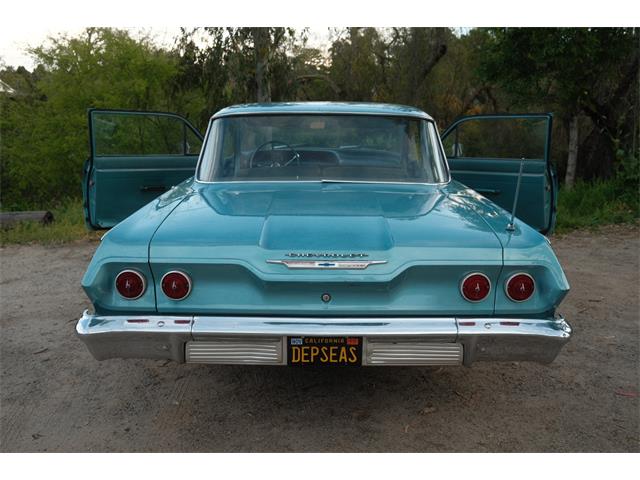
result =
[[[613,162],[621,132],[610,105],[624,102],[637,78],[634,29],[494,28],[487,33],[480,51],[484,78],[521,105],[552,107],[568,126],[567,187],[576,178],[580,115],[587,114],[599,126],[608,161]]]

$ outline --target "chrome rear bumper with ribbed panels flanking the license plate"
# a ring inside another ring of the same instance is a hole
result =
[[[101,316],[76,332],[98,360],[155,358],[212,364],[287,364],[287,336],[363,338],[362,364],[550,363],[571,336],[563,318],[289,318]]]

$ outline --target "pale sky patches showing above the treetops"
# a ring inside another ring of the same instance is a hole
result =
[[[302,29],[303,27],[295,27]],[[180,33],[180,27],[147,27],[125,28],[136,36],[151,34],[156,44],[170,47],[175,37]],[[74,36],[82,32],[83,28],[45,28],[38,25],[5,25],[0,28],[0,61],[7,66],[24,66],[31,70],[35,67],[31,56],[25,51],[28,47],[36,47],[48,37],[67,34]],[[329,40],[328,28],[314,27],[309,30],[309,45],[313,47],[326,46]]]

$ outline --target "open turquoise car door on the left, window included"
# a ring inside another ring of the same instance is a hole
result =
[[[89,110],[83,197],[90,228],[113,227],[195,172],[202,135],[173,113]]]

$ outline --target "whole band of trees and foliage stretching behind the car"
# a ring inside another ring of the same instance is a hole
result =
[[[637,29],[330,33],[326,50],[285,27],[183,29],[172,48],[109,28],[50,39],[31,50],[33,71],[0,66],[16,91],[0,94],[1,207],[81,194],[89,107],[168,110],[204,129],[220,108],[256,100],[403,103],[441,126],[464,114],[554,111],[561,170],[578,114],[578,176],[637,183]]]

